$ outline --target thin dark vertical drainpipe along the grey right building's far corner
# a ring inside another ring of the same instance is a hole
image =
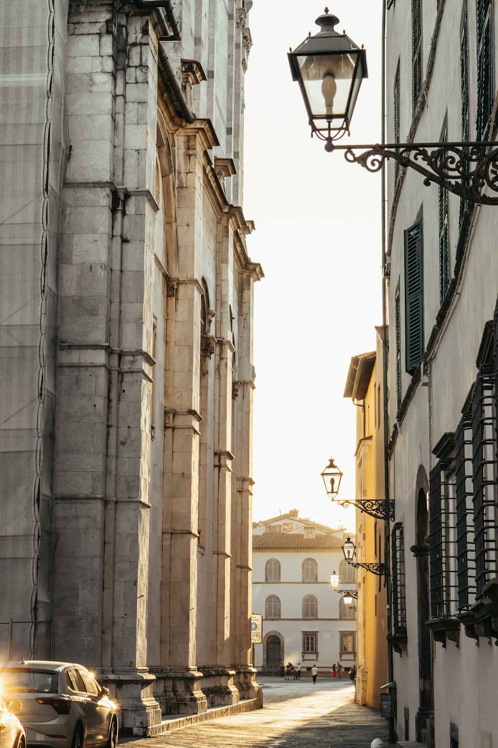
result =
[[[382,123],[381,123],[381,143],[385,144],[385,97],[386,97],[386,2],[382,0]],[[384,397],[384,486],[385,486],[385,584],[387,599],[387,679],[393,683],[393,645],[390,641],[392,633],[392,587],[390,579],[390,520],[389,520],[389,459],[387,453],[387,444],[389,444],[389,419],[387,417],[387,281],[384,278],[384,268],[386,262],[386,168],[385,160],[382,162],[382,393]],[[395,718],[389,717],[389,742],[395,741]]]

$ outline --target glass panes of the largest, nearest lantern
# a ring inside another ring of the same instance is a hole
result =
[[[309,108],[314,117],[346,116],[357,57],[358,52],[297,55]]]

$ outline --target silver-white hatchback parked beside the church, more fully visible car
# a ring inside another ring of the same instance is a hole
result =
[[[38,660],[8,662],[0,665],[0,683],[4,699],[21,702],[19,720],[28,746],[116,748],[116,705],[108,689],[85,667]]]

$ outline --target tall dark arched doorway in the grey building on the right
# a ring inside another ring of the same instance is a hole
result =
[[[434,734],[434,700],[432,692],[432,634],[427,621],[429,609],[429,481],[420,465],[417,474],[416,545],[411,550],[417,559],[417,629],[420,702],[415,717],[417,741],[432,746]]]

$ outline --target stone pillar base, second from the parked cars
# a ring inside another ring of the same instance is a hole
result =
[[[154,696],[163,714],[204,714],[208,699],[202,693],[202,672],[197,669],[151,668]]]

